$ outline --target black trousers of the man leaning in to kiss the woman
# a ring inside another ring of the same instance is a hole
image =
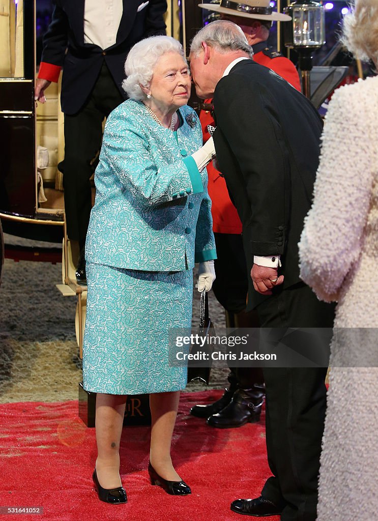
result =
[[[261,327],[333,325],[334,306],[320,302],[304,283],[279,291],[256,309]],[[261,494],[284,507],[282,521],[315,521],[326,368],[264,368],[263,374],[267,452],[273,476]]]

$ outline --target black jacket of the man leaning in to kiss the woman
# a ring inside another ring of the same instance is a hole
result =
[[[307,98],[253,60],[237,63],[215,89],[217,160],[243,224],[248,308],[254,255],[281,255],[284,288],[299,282],[298,242],[311,205],[322,120]]]

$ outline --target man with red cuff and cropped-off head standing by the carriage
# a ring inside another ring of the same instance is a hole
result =
[[[62,170],[68,237],[79,246],[76,269],[86,284],[84,245],[92,208],[90,177],[102,140],[102,122],[125,99],[121,88],[130,48],[148,36],[166,34],[166,0],[54,0],[43,39],[35,99],[59,79],[65,114]]]

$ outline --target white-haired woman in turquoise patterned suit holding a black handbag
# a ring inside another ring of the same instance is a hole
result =
[[[191,78],[179,42],[154,36],[126,63],[130,99],[109,116],[86,238],[84,389],[97,393],[99,499],[125,503],[119,445],[127,395],[150,393],[148,473],[173,495],[191,489],[172,465],[171,438],[186,367],[171,367],[169,329],[191,327],[194,263],[210,290],[216,258],[201,126],[187,101]]]

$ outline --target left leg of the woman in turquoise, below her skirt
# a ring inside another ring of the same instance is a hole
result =
[[[127,396],[97,393],[96,396],[96,472],[106,489],[121,487],[119,444]]]

